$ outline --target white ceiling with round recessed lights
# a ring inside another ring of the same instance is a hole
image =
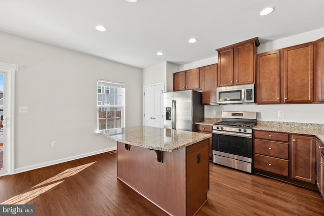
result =
[[[268,6],[275,11],[259,16]],[[323,0],[0,0],[0,31],[145,68],[323,28],[323,9]],[[198,41],[189,44],[191,37]]]

